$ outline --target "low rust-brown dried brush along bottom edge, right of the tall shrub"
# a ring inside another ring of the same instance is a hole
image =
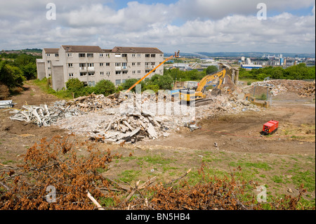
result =
[[[240,167],[239,167],[240,170]],[[189,173],[187,171],[187,173]],[[185,173],[180,180],[187,175]],[[305,190],[301,186],[298,197],[286,196],[284,199],[272,199],[272,202],[258,203],[256,197],[246,194],[250,190],[256,189],[257,184],[250,181],[246,183],[242,180],[235,180],[234,173],[231,178],[225,176],[205,176],[204,164],[199,169],[202,177],[200,183],[192,186],[183,180],[174,187],[174,181],[168,185],[154,185],[143,192],[143,195],[150,197],[133,198],[130,202],[119,204],[119,209],[129,210],[262,210],[279,209],[295,210],[298,209],[298,202]]]

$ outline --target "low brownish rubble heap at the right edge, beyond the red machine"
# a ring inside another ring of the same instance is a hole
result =
[[[315,95],[315,80],[303,81],[303,80],[287,80],[277,79],[268,81],[257,81],[252,83],[252,86],[263,86],[270,88],[272,95],[282,94],[286,92],[297,93],[301,97]]]

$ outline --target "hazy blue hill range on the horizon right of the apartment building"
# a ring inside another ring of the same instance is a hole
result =
[[[170,56],[174,53],[164,53],[164,55]],[[283,57],[298,57],[298,58],[315,58],[315,53],[271,53],[271,52],[195,52],[195,53],[181,53],[180,56],[183,57],[199,57],[199,58],[212,58],[212,57],[232,57],[241,58],[242,56],[246,58],[261,58],[263,55],[279,55],[282,54]]]

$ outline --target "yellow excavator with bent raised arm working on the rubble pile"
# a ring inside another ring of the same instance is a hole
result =
[[[206,105],[210,103],[211,99],[206,98],[206,84],[209,83],[209,81],[213,81],[214,79],[218,78],[218,84],[215,88],[212,89],[211,95],[219,95],[221,93],[221,86],[223,84],[223,81],[227,75],[231,75],[232,69],[228,66],[223,66],[224,68],[218,72],[215,72],[213,74],[208,74],[201,81],[199,81],[199,86],[197,86],[196,90],[191,89],[182,89],[180,90],[180,102],[183,104],[185,103],[194,103],[195,106],[199,105]]]

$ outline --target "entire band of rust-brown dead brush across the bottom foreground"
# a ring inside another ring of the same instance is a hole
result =
[[[75,139],[73,135],[44,138],[27,150],[23,166],[1,164],[0,209],[294,210],[305,193],[301,185],[297,197],[258,203],[251,194],[257,183],[235,178],[235,170],[224,178],[206,175],[205,164],[198,169],[199,182],[195,185],[185,180],[188,170],[170,183],[152,185],[156,180],[153,177],[132,186],[98,172],[107,169],[119,154],[100,152],[95,143],[79,144]],[[77,147],[88,154],[77,155]],[[47,199],[49,186],[55,187],[55,202]],[[105,208],[107,199],[112,204]]]

